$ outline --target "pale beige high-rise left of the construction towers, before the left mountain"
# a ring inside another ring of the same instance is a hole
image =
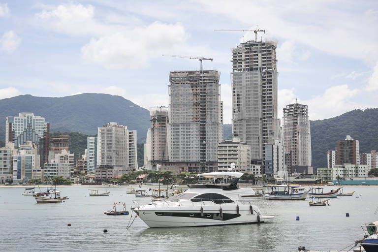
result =
[[[138,170],[136,130],[108,123],[97,132],[97,166],[112,166],[114,176]]]

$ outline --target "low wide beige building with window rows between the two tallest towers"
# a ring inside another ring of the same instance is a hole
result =
[[[234,138],[218,144],[218,171],[227,171],[231,163],[235,164],[233,171],[248,172],[251,167],[251,147]]]

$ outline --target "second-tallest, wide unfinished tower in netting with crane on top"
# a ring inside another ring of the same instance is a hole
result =
[[[219,77],[215,70],[169,74],[168,157],[175,163],[199,163],[189,171],[217,170],[223,130]]]

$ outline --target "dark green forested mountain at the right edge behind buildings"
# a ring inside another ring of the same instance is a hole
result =
[[[359,141],[360,153],[378,149],[378,108],[356,109],[330,119],[310,121],[312,165],[327,166],[327,150],[347,135]]]

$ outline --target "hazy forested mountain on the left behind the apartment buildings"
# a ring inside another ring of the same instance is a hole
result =
[[[45,117],[51,132],[97,134],[97,127],[117,122],[137,130],[137,141],[144,141],[150,127],[150,114],[122,96],[81,94],[65,97],[18,95],[0,99],[0,139],[5,139],[5,117],[32,112]]]

